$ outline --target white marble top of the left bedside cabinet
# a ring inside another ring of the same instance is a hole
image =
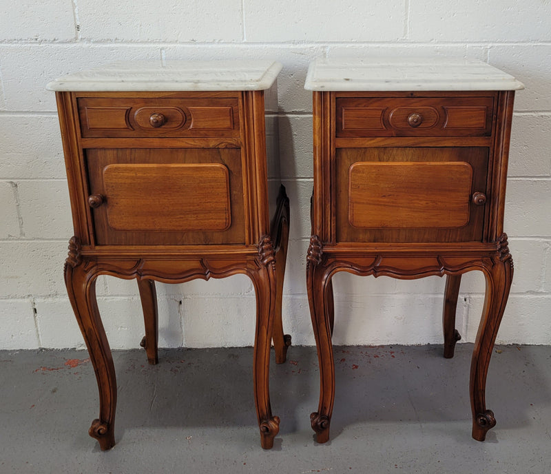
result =
[[[282,65],[274,61],[133,61],[94,68],[48,83],[55,91],[265,90]]]

